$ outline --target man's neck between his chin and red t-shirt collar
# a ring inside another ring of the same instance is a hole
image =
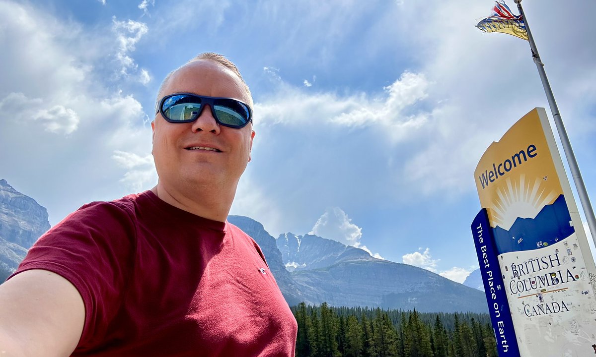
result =
[[[234,192],[222,192],[215,187],[208,190],[175,190],[161,181],[151,189],[162,201],[176,208],[213,221],[225,222],[234,200]],[[187,192],[188,191],[188,192]]]

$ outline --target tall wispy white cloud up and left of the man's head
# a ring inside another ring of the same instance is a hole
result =
[[[128,77],[131,71],[136,72],[138,65],[131,57],[136,49],[136,43],[148,32],[147,24],[138,21],[118,21],[116,16],[112,17],[112,30],[116,33],[118,50],[116,59],[119,61],[120,75]],[[141,77],[141,80],[143,77]]]

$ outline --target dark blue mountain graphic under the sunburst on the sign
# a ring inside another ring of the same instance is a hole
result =
[[[569,237],[575,232],[563,195],[534,218],[517,218],[509,230],[492,228],[498,254],[543,248]]]

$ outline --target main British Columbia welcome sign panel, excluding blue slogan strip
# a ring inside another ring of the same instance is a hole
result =
[[[474,171],[520,356],[596,353],[596,267],[544,108]]]

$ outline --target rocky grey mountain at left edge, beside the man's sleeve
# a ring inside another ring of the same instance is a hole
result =
[[[44,207],[0,180],[0,283],[49,227]]]

